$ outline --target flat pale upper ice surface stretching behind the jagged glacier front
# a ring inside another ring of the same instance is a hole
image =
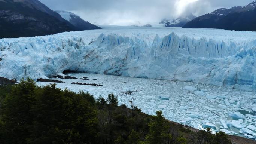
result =
[[[156,34],[159,37],[164,37],[174,32],[179,37],[188,36],[195,39],[201,39],[202,37],[207,40],[213,39],[217,41],[224,42],[235,42],[237,44],[250,42],[256,39],[256,33],[251,31],[229,31],[222,29],[206,29],[206,28],[181,28],[181,27],[124,27],[124,26],[100,26],[103,29],[100,30],[85,30],[85,31],[76,31],[76,32],[64,32],[59,34],[54,34],[50,36],[42,36],[42,38],[49,37],[58,37],[61,39],[76,37],[83,37],[85,39],[88,38],[96,39],[101,33],[104,34],[119,34],[121,36],[137,36],[141,38],[146,38],[149,40],[153,40]],[[24,40],[24,38],[16,38],[16,39],[0,39],[5,41],[13,41],[13,40]]]

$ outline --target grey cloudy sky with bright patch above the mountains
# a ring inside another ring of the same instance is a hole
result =
[[[253,0],[40,0],[52,10],[76,13],[97,25],[157,24],[186,13],[195,16],[218,8],[244,6]]]

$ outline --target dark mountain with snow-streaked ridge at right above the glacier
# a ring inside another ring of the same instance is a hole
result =
[[[237,31],[256,31],[256,1],[244,7],[221,8],[193,19],[183,28],[220,28]]]

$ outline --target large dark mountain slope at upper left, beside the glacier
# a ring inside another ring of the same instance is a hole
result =
[[[0,0],[0,38],[43,36],[76,30],[38,0]]]

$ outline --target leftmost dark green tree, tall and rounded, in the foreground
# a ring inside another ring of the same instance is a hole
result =
[[[0,115],[4,129],[8,130],[6,139],[13,144],[25,144],[30,132],[28,127],[33,123],[31,108],[36,103],[34,90],[37,88],[32,79],[21,80],[12,87],[10,94],[1,104]]]

